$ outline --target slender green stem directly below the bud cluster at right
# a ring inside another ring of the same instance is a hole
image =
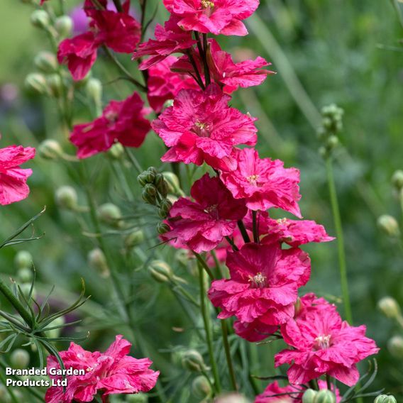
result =
[[[334,226],[336,229],[337,248],[338,248],[338,265],[341,275],[341,291],[343,294],[344,311],[347,321],[353,323],[353,315],[351,314],[350,294],[348,293],[348,278],[346,266],[346,252],[344,250],[343,226],[341,225],[341,214],[338,207],[338,199],[336,192],[336,184],[334,182],[333,165],[331,158],[326,159],[326,171],[329,183],[329,194],[331,199],[331,209],[333,211]]]

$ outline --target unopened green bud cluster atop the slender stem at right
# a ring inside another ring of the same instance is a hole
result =
[[[338,133],[343,129],[343,114],[343,109],[335,104],[324,106],[321,110],[322,121],[317,135],[322,143],[319,153],[323,158],[328,158],[338,146]]]

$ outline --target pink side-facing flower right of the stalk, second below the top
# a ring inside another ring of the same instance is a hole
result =
[[[262,67],[270,66],[263,57],[234,63],[229,53],[221,50],[216,40],[210,40],[209,67],[214,81],[223,85],[223,92],[231,94],[239,87],[247,88],[262,84],[267,74],[275,74]]]

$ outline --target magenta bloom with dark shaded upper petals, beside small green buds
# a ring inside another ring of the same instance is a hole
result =
[[[164,238],[197,253],[214,249],[245,216],[245,202],[234,199],[219,178],[209,174],[194,182],[190,194],[194,201],[181,197],[170,209],[172,230]]]

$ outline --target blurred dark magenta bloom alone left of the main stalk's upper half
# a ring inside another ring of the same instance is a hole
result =
[[[144,117],[144,103],[135,92],[124,101],[111,101],[102,116],[90,123],[74,126],[70,141],[78,148],[78,158],[88,158],[109,150],[115,142],[140,147],[150,131]]]

